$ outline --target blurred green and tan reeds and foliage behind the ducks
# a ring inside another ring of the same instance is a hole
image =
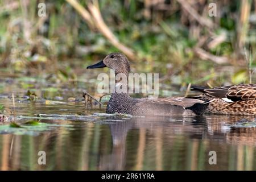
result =
[[[0,20],[0,76],[77,80],[123,52],[166,84],[255,82],[255,0],[1,0]]]

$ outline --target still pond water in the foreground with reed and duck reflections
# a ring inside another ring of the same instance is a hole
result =
[[[0,105],[14,110],[10,90],[2,90]],[[82,102],[15,97],[15,114],[0,122],[0,169],[256,169],[255,117],[104,113],[104,108],[85,109]],[[39,151],[46,152],[46,164],[38,164]],[[217,164],[209,164],[210,151],[216,152]]]

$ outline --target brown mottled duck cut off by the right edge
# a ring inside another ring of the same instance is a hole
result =
[[[229,85],[212,89],[201,86],[191,88],[203,92],[203,95],[187,98],[209,102],[205,113],[256,115],[256,84]]]

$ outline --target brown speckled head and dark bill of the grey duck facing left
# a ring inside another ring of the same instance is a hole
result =
[[[122,53],[110,53],[108,56],[104,58],[104,60],[88,66],[87,69],[104,68],[104,67],[113,69],[115,74],[118,74],[118,73],[127,74],[128,72],[130,72],[129,60]]]

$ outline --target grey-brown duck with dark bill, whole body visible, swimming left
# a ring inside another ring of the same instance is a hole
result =
[[[97,64],[88,69],[108,67],[115,75],[123,73],[128,78],[130,72],[129,60],[122,53],[110,53]],[[121,81],[115,81],[115,88]],[[167,97],[167,98],[132,98],[126,93],[112,93],[106,113],[123,113],[131,115],[195,115],[202,114],[207,108],[207,102],[195,98]]]

